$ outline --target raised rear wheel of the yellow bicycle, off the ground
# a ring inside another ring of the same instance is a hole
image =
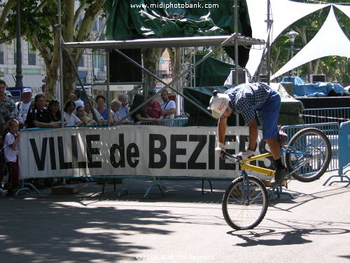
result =
[[[322,130],[304,128],[295,133],[288,145],[295,153],[286,153],[286,167],[289,172],[296,169],[291,173],[296,180],[313,182],[325,173],[330,163],[332,149],[328,137]]]

